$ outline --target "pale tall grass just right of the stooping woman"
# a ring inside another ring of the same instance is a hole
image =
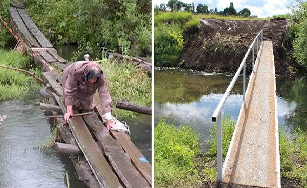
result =
[[[139,105],[151,105],[151,77],[132,62],[110,61],[103,58],[100,62],[106,72],[108,87],[112,96],[112,104],[115,106],[117,100],[126,99],[131,103]],[[135,117],[136,113],[113,109],[113,114],[120,117]]]

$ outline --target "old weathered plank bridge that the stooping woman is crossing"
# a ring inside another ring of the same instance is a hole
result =
[[[14,32],[18,33],[25,51],[43,71],[46,87],[41,93],[50,104],[41,103],[41,108],[53,115],[64,114],[61,72],[67,67],[67,61],[57,55],[23,5],[11,4],[9,13]],[[89,187],[151,187],[151,164],[126,133],[106,129],[97,93],[94,103],[93,114],[76,116],[68,124],[63,118],[54,118],[65,142],[56,143],[56,147],[70,155],[79,178]]]

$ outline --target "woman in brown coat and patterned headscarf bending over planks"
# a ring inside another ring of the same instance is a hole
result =
[[[73,116],[73,109],[92,111],[95,107],[94,94],[98,89],[104,112],[102,121],[108,130],[115,125],[111,114],[112,98],[106,83],[106,76],[97,63],[78,61],[69,65],[63,71],[62,87],[64,104],[67,106],[67,113],[64,114],[65,122]]]

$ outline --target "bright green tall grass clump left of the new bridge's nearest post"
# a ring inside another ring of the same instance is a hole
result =
[[[155,187],[200,187],[195,156],[199,134],[189,126],[176,127],[160,119],[155,127]]]

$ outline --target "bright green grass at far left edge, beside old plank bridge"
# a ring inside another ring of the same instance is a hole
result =
[[[18,51],[0,49],[0,65],[39,72],[31,65],[31,60]],[[39,86],[32,76],[0,68],[0,100],[20,98],[26,95],[30,88]]]

